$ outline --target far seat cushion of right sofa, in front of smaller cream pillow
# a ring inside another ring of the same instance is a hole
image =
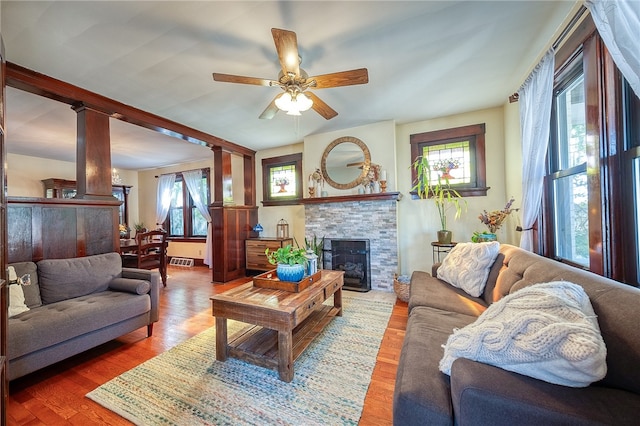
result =
[[[477,317],[487,309],[484,300],[432,277],[426,272],[411,274],[409,312],[416,306],[429,306]]]

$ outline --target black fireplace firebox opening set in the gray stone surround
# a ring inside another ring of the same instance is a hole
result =
[[[325,238],[322,248],[322,267],[344,271],[345,290],[371,290],[369,240]]]

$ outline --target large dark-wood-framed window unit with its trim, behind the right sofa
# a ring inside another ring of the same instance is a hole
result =
[[[540,249],[640,285],[640,99],[589,16],[556,51]]]

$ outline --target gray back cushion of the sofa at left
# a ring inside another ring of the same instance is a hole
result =
[[[118,253],[38,262],[42,303],[54,303],[105,291],[122,273]]]

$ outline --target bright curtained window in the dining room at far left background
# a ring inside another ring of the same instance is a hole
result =
[[[198,192],[206,204],[209,204],[209,169],[202,169],[202,179],[198,185]],[[171,207],[165,222],[169,237],[177,238],[206,238],[207,220],[198,210],[182,173],[176,173],[176,181],[171,192]]]

